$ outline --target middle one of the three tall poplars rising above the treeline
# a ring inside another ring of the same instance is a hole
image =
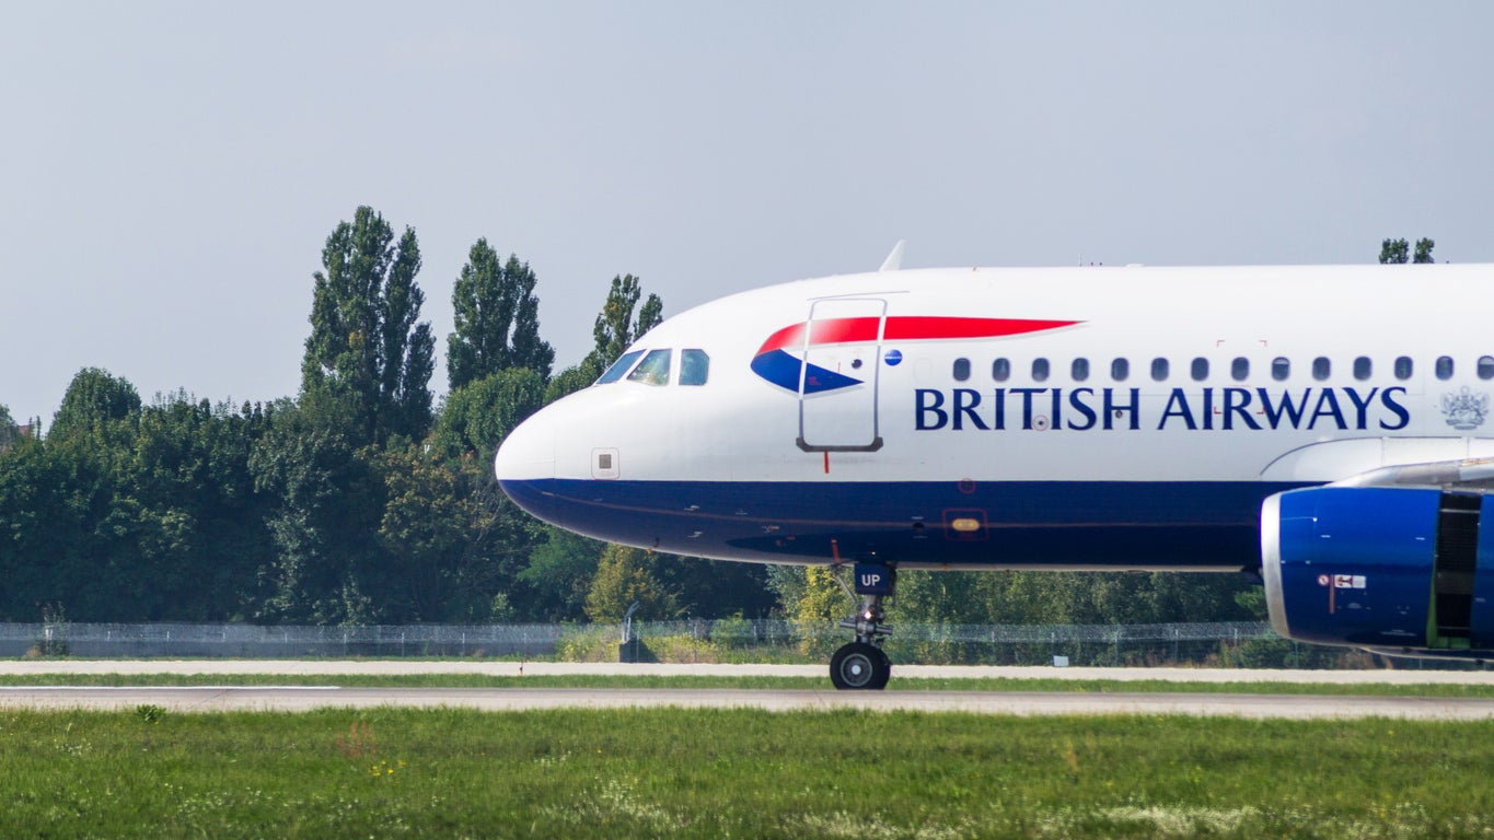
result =
[[[550,379],[556,354],[539,339],[535,282],[529,263],[515,255],[499,263],[486,239],[472,245],[451,289],[456,331],[447,336],[447,377],[453,391],[509,367]]]

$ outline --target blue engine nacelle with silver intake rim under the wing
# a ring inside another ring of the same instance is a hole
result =
[[[1261,558],[1271,627],[1298,642],[1383,653],[1494,655],[1491,506],[1479,494],[1416,488],[1321,486],[1267,498]]]

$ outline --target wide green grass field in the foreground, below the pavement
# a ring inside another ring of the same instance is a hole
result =
[[[1494,722],[0,713],[6,837],[1475,837]]]

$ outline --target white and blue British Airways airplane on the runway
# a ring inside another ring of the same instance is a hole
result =
[[[901,568],[1243,571],[1286,639],[1494,651],[1494,266],[899,258],[666,319],[508,436],[502,489],[599,540],[850,567],[841,689],[887,685]]]

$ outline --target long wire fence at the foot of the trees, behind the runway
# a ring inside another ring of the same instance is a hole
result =
[[[834,624],[768,619],[616,624],[306,627],[248,624],[0,624],[0,656],[399,658],[823,662],[850,640]],[[1264,622],[1146,625],[895,625],[902,664],[1364,667],[1342,648],[1298,645]]]

